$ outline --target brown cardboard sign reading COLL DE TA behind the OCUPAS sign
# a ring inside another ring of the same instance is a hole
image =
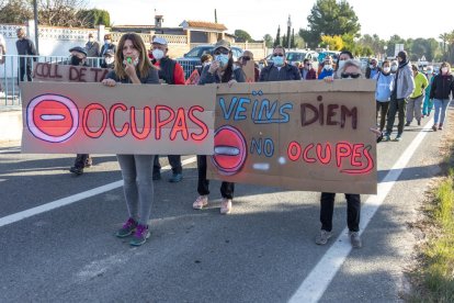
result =
[[[109,71],[107,68],[36,63],[33,79],[52,82],[101,82]]]

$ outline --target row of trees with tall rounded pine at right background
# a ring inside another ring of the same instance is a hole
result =
[[[454,31],[439,36],[442,43],[435,38],[402,38],[398,35],[389,40],[383,40],[378,35],[361,36],[361,24],[347,0],[317,0],[307,16],[308,27],[300,29],[292,47],[329,47],[331,50],[351,50],[356,56],[394,56],[396,44],[404,44],[410,54],[411,60],[418,60],[422,56],[427,60],[449,60],[454,63]],[[263,40],[268,47],[277,44],[287,46],[287,41],[281,38],[281,27],[277,27],[276,37],[273,40],[266,34]]]

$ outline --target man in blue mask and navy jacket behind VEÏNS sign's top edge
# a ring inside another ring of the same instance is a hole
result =
[[[273,49],[272,64],[264,67],[260,72],[260,82],[300,80],[299,69],[285,61],[285,48],[277,45]]]

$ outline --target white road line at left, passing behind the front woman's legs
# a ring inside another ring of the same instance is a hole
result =
[[[195,157],[191,157],[191,158],[188,158],[188,159],[183,160],[182,165],[183,166],[189,165],[189,164],[195,162],[195,160],[196,160]],[[169,169],[170,169],[170,166],[162,167],[162,170],[169,170]],[[8,224],[19,222],[21,220],[24,220],[24,218],[27,218],[27,217],[31,217],[31,216],[34,216],[34,215],[37,215],[37,214],[42,214],[42,213],[53,211],[53,210],[58,209],[58,207],[63,207],[63,206],[72,204],[72,203],[81,201],[83,199],[87,199],[87,198],[90,198],[90,197],[93,197],[93,195],[97,195],[97,194],[100,194],[100,193],[104,193],[104,192],[107,192],[107,191],[111,191],[111,190],[114,190],[114,189],[117,189],[117,188],[121,188],[121,187],[123,187],[123,180],[118,180],[118,181],[115,181],[115,182],[112,182],[112,183],[109,183],[109,184],[105,184],[105,186],[102,186],[102,187],[98,187],[98,188],[94,188],[94,189],[91,189],[91,190],[88,190],[88,191],[83,191],[83,192],[80,192],[80,193],[77,193],[77,194],[73,194],[73,195],[70,195],[70,197],[66,197],[66,198],[63,198],[63,199],[59,199],[59,200],[56,200],[56,201],[36,206],[36,207],[33,207],[33,209],[29,209],[29,210],[25,210],[25,211],[15,213],[15,214],[11,214],[11,215],[0,217],[0,227],[2,227],[4,225],[8,225]]]

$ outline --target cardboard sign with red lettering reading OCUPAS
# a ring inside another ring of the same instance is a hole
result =
[[[212,155],[215,86],[24,82],[23,153]]]

